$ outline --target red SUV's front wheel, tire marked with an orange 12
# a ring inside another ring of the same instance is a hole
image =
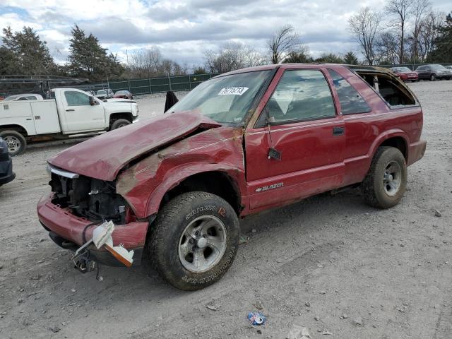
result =
[[[239,220],[219,196],[189,192],[162,208],[148,241],[150,260],[167,283],[179,290],[201,290],[220,280],[232,265]]]

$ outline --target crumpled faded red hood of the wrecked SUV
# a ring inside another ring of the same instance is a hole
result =
[[[86,177],[112,181],[124,165],[140,155],[197,129],[219,126],[216,121],[195,112],[164,114],[74,145],[54,155],[48,162]]]

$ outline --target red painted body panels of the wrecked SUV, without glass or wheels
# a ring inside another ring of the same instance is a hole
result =
[[[388,138],[401,138],[408,165],[424,155],[420,106],[391,109],[362,78],[340,65],[285,64],[254,70],[274,68],[278,70],[244,129],[220,126],[195,112],[165,114],[92,138],[59,153],[49,162],[88,177],[116,180],[117,193],[129,203],[137,220],[143,220],[158,213],[167,191],[193,174],[208,171],[226,174],[237,191],[244,216],[361,182],[376,148]],[[268,128],[254,126],[287,69],[322,71],[333,93],[336,115],[271,126],[273,145],[282,159],[269,160]],[[342,115],[328,69],[349,81],[372,111]],[[204,130],[199,132],[200,127]],[[334,127],[345,128],[345,134],[333,136]],[[194,134],[189,136],[191,133]],[[143,159],[121,170],[145,153],[148,155]],[[37,209],[40,220],[49,229],[81,244],[81,232],[88,220],[54,206],[49,196],[42,198]],[[142,246],[147,226],[147,222],[136,221],[117,227],[115,242],[129,248]],[[88,229],[88,239],[90,232]]]

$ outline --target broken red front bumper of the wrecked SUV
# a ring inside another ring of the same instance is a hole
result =
[[[93,230],[97,225],[73,215],[67,208],[54,205],[52,196],[52,193],[42,196],[37,204],[37,216],[56,244],[64,249],[75,250],[93,237]],[[133,249],[133,266],[141,263],[148,225],[147,221],[137,221],[116,225],[114,228],[113,244],[114,246],[123,244],[129,251]],[[107,250],[98,250],[93,245],[88,249],[95,261],[108,266],[122,266]]]

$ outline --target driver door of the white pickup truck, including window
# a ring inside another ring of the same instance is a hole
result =
[[[90,97],[78,90],[65,90],[61,98],[64,102],[64,117],[66,131],[92,131],[105,129],[104,107],[95,100],[97,105],[90,104]]]

